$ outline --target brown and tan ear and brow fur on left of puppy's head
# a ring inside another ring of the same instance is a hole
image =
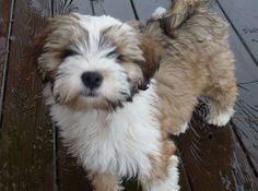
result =
[[[81,27],[78,20],[74,13],[49,19],[46,28],[35,37],[37,68],[44,82],[54,81],[58,65],[71,51],[74,40],[89,40],[87,31]]]

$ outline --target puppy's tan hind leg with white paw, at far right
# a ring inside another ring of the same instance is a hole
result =
[[[214,126],[225,126],[234,115],[234,104],[237,97],[234,59],[231,52],[216,56],[220,63],[211,65],[211,85],[204,89],[210,98],[210,114],[207,122]]]

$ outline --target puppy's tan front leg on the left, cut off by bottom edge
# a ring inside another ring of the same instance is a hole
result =
[[[124,187],[120,186],[121,180],[109,174],[96,174],[89,175],[89,179],[92,181],[94,191],[121,191]]]

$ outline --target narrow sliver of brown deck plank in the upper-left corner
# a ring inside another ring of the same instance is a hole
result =
[[[10,48],[13,4],[13,0],[0,0],[0,115],[2,114],[2,100]]]

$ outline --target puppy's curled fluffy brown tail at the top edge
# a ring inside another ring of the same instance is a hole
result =
[[[160,17],[161,26],[169,36],[197,11],[207,8],[209,0],[174,0],[171,8]]]

